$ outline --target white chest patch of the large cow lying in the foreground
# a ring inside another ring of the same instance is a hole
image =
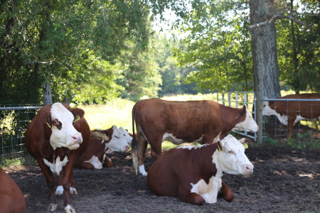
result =
[[[215,203],[217,202],[218,192],[222,187],[221,183],[221,178],[215,176],[210,178],[208,184],[201,179],[196,184],[191,182],[191,192],[201,195],[207,203]]]

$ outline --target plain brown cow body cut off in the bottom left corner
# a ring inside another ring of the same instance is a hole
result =
[[[26,200],[16,182],[0,167],[0,212],[26,212]]]

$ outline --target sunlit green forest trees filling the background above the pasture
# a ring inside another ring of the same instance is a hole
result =
[[[43,104],[48,86],[75,104],[255,90],[252,2],[1,1],[0,103]],[[259,2],[280,87],[319,92],[319,1]]]

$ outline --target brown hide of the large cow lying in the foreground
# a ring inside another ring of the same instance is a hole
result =
[[[204,204],[203,197],[191,193],[191,182],[203,179],[207,183],[217,173],[212,155],[220,143],[211,143],[203,148],[173,148],[161,155],[151,165],[146,176],[147,184],[156,195],[180,197],[183,202]],[[233,193],[223,182],[225,200],[233,199]],[[227,196],[225,196],[227,195]]]

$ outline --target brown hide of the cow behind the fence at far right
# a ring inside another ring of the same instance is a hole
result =
[[[320,99],[319,94],[289,94],[280,99]],[[269,102],[269,107],[274,109],[280,115],[288,116],[288,138],[294,128],[294,120],[297,116],[302,116],[306,119],[317,119],[320,116],[320,102],[284,102],[274,101]]]

